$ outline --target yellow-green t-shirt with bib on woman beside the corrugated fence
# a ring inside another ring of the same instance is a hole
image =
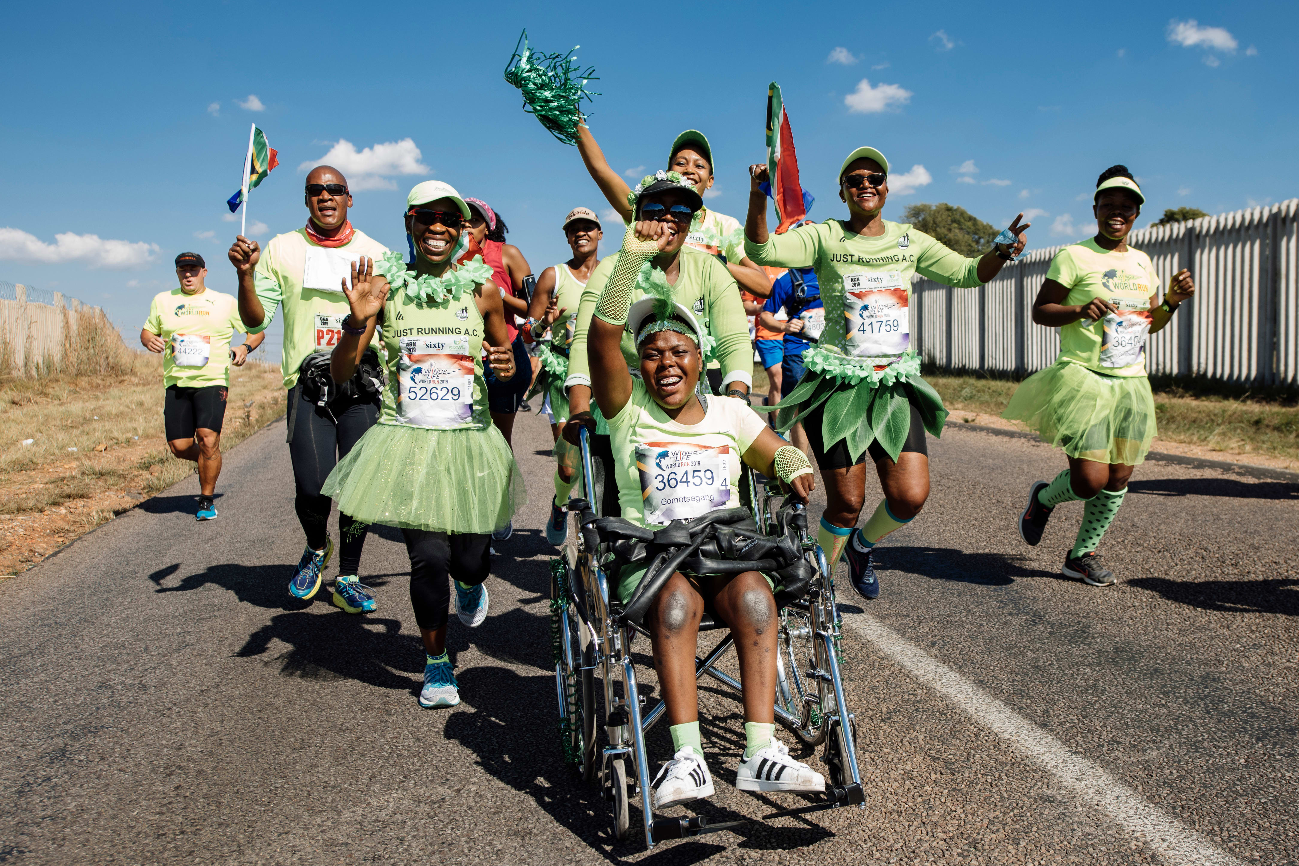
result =
[[[1159,288],[1150,256],[1131,247],[1125,253],[1103,249],[1095,239],[1087,239],[1057,252],[1047,279],[1069,290],[1066,305],[1103,297],[1118,308],[1118,313],[1109,313],[1099,322],[1081,318],[1061,327],[1056,361],[1079,364],[1107,375],[1146,375],[1150,301]]]

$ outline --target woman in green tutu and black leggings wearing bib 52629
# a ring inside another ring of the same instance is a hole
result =
[[[440,180],[407,196],[414,261],[386,253],[352,266],[343,280],[351,313],[334,349],[335,382],[352,377],[382,327],[388,383],[379,421],[325,480],[323,492],[362,523],[401,530],[410,554],[410,602],[423,637],[421,706],[455,706],[459,684],[447,657],[448,578],[456,615],[487,618],[483,580],[491,534],[523,505],[523,479],[491,421],[483,353],[499,379],[518,375],[491,267],[474,254],[469,206]]]

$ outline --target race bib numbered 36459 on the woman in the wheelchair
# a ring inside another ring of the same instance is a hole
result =
[[[730,502],[730,445],[648,441],[637,445],[637,471],[646,523],[662,526]]]

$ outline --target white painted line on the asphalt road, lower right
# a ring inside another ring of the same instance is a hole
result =
[[[1147,802],[1108,771],[1074,754],[1060,740],[874,617],[846,614],[843,619],[912,676],[1004,739],[1012,749],[1053,775],[1086,804],[1108,814],[1169,863],[1243,866],[1242,861],[1216,849],[1204,836]]]

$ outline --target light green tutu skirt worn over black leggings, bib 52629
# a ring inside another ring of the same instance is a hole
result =
[[[523,476],[496,425],[425,430],[377,423],[321,489],[362,523],[483,535],[527,502]]]

